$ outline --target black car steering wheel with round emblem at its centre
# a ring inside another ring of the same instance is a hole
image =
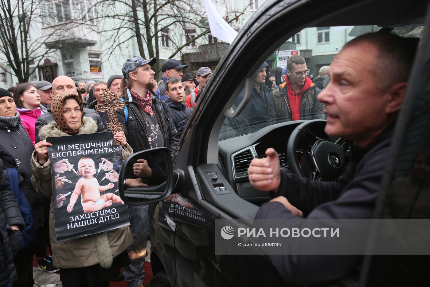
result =
[[[290,170],[298,176],[311,180],[332,181],[344,171],[345,153],[350,142],[337,137],[334,140],[317,137],[326,126],[326,120],[310,120],[295,128],[287,143],[287,159]],[[313,132],[312,132],[313,131]],[[325,134],[325,133],[324,133]],[[305,175],[297,160],[297,149],[303,151],[302,162],[307,164],[310,171]]]

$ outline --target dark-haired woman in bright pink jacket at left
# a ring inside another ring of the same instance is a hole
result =
[[[13,93],[13,99],[15,100],[16,110],[21,117],[22,125],[24,125],[34,145],[36,137],[34,125],[42,113],[39,107],[40,95],[37,87],[30,83],[18,84]]]

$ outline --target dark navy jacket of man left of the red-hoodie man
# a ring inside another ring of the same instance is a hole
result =
[[[252,96],[241,115],[249,122],[249,128],[252,132],[258,131],[267,125],[269,114],[269,88],[262,84],[264,95],[261,95],[256,87],[252,86]],[[245,96],[245,89],[240,92],[234,104],[239,106]]]

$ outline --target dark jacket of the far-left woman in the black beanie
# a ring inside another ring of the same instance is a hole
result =
[[[0,121],[0,159],[3,161],[3,175],[9,180],[6,168],[18,168],[19,188],[30,203],[34,216],[34,227],[42,227],[43,198],[34,191],[31,184],[31,153],[34,151],[33,143],[21,122],[15,127],[9,127],[6,122]],[[16,159],[16,160],[15,160]],[[19,167],[18,167],[19,163]]]

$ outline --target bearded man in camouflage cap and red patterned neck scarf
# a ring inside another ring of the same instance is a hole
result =
[[[121,80],[118,97],[123,97],[126,103],[124,132],[135,153],[155,147],[167,147],[173,154],[178,144],[178,134],[171,110],[165,102],[151,94],[155,74],[151,66],[156,62],[156,58],[146,60],[141,56],[134,56],[123,65],[124,78]],[[133,167],[139,170],[148,167],[148,164],[146,160],[138,159]],[[126,184],[138,186],[142,184],[141,178],[133,179],[133,184],[127,179]],[[133,243],[128,248],[131,264],[124,267],[124,278],[129,286],[143,286],[143,264],[149,227],[148,206],[129,206],[129,218]]]

